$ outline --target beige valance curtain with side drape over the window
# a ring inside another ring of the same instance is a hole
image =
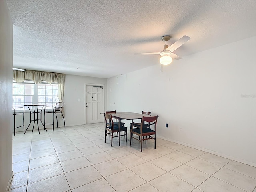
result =
[[[13,79],[17,83],[21,83],[25,80],[33,80],[36,84],[47,82],[58,83],[58,98],[61,102],[63,102],[64,97],[64,83],[65,83],[65,74],[60,73],[50,73],[50,72],[42,72],[42,71],[17,71],[13,70]]]

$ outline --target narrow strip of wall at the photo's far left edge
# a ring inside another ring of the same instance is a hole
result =
[[[0,1],[0,192],[12,179],[12,19]]]

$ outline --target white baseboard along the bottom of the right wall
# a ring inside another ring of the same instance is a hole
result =
[[[184,142],[176,141],[176,140],[173,140],[173,139],[167,139],[167,138],[164,138],[164,137],[161,137],[161,136],[158,136],[158,138],[164,139],[164,140],[167,140],[167,141],[171,141],[171,142],[174,142],[174,143],[178,143],[178,144],[181,144],[181,145],[185,145],[185,146],[188,146],[188,147],[192,147],[192,148],[195,148],[195,149],[198,149],[198,150],[201,150],[201,151],[205,151],[205,152],[208,152],[208,153],[211,153],[211,154],[214,154],[214,155],[218,155],[218,156],[230,159],[230,160],[234,160],[234,161],[237,161],[237,162],[240,162],[240,163],[244,163],[244,164],[256,167],[256,163],[249,162],[249,161],[246,161],[246,160],[242,160],[242,159],[239,159],[239,158],[236,158],[236,157],[228,156],[226,154],[221,154],[221,153],[218,153],[216,151],[208,150],[208,149],[205,149],[205,148],[201,148],[201,147],[194,146],[194,145],[191,145],[191,144],[187,144],[187,143],[184,143]]]

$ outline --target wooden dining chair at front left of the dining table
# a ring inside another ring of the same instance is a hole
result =
[[[118,138],[119,134],[121,134],[121,132],[123,131],[124,134],[120,136],[126,136],[126,144],[127,144],[127,127],[122,125],[119,127],[118,124],[114,124],[111,114],[105,113],[104,117],[105,117],[105,143],[106,143],[106,136],[109,135],[109,140],[111,138],[111,146],[112,146],[113,138],[114,137]],[[117,136],[113,136],[113,133],[117,133]]]

